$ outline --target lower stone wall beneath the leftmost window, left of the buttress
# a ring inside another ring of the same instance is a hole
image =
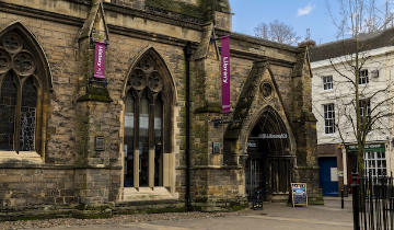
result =
[[[0,209],[78,204],[74,170],[0,169]]]

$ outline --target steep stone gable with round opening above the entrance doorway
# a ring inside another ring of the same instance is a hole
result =
[[[268,83],[271,88],[271,92],[266,96],[264,96],[264,92],[262,92],[262,84],[264,83]],[[248,134],[267,105],[273,107],[286,124],[291,138],[291,153],[294,154],[296,141],[270,64],[269,61],[256,61],[253,64],[252,70],[235,105],[233,114],[235,123],[229,125],[224,134],[224,162],[227,164],[240,164],[240,156],[245,154]]]

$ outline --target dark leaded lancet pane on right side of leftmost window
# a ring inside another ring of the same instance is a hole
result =
[[[24,82],[22,90],[21,133],[20,133],[21,151],[34,150],[36,107],[37,107],[37,90],[34,87],[33,79],[30,78]]]

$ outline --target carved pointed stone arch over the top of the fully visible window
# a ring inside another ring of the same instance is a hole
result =
[[[125,99],[126,97],[126,93],[128,91],[128,80],[131,77],[132,71],[138,68],[138,64],[146,57],[151,57],[152,59],[155,60],[157,62],[157,67],[158,67],[158,72],[164,77],[164,87],[166,88],[165,92],[163,92],[163,94],[166,95],[167,100],[170,100],[170,102],[174,105],[175,102],[177,101],[177,91],[175,88],[175,81],[173,78],[173,73],[172,71],[169,69],[169,66],[166,65],[165,60],[163,59],[163,57],[154,49],[153,46],[147,46],[146,48],[143,48],[141,51],[138,53],[138,55],[134,58],[130,68],[127,71],[127,74],[125,76],[125,80],[124,80],[124,88],[123,88],[123,93],[121,93],[121,97]],[[171,90],[171,91],[167,91]]]

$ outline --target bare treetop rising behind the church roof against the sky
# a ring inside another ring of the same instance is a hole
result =
[[[300,41],[292,26],[278,20],[269,24],[260,23],[254,28],[254,32],[257,37],[288,45],[297,44]]]

